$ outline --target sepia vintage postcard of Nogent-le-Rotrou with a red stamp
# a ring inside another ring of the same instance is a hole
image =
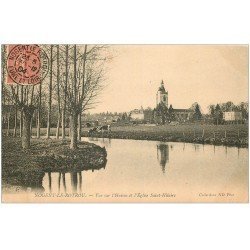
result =
[[[247,203],[248,50],[2,45],[2,202]]]

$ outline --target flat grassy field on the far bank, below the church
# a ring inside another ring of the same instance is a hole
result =
[[[89,136],[89,128],[82,129],[82,136]],[[248,125],[126,125],[111,126],[111,133],[93,133],[94,137],[108,137],[134,140],[184,141],[229,146],[248,146]],[[33,136],[36,130],[33,128]],[[11,131],[12,133],[12,131]],[[56,129],[51,129],[55,136]],[[66,135],[69,129],[66,129]],[[46,128],[41,129],[41,135],[46,135]]]

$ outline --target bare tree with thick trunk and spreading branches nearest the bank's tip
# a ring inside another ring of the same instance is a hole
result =
[[[66,106],[70,116],[71,143],[70,148],[77,148],[77,139],[81,138],[81,115],[96,103],[96,97],[103,86],[105,57],[101,51],[106,47],[92,46],[88,49],[77,45],[65,50],[65,83]]]

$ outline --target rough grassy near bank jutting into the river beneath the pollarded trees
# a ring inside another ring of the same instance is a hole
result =
[[[93,143],[79,142],[70,150],[69,141],[31,139],[23,150],[20,138],[2,139],[2,186],[42,188],[46,172],[73,172],[100,169],[106,165],[106,150]]]

